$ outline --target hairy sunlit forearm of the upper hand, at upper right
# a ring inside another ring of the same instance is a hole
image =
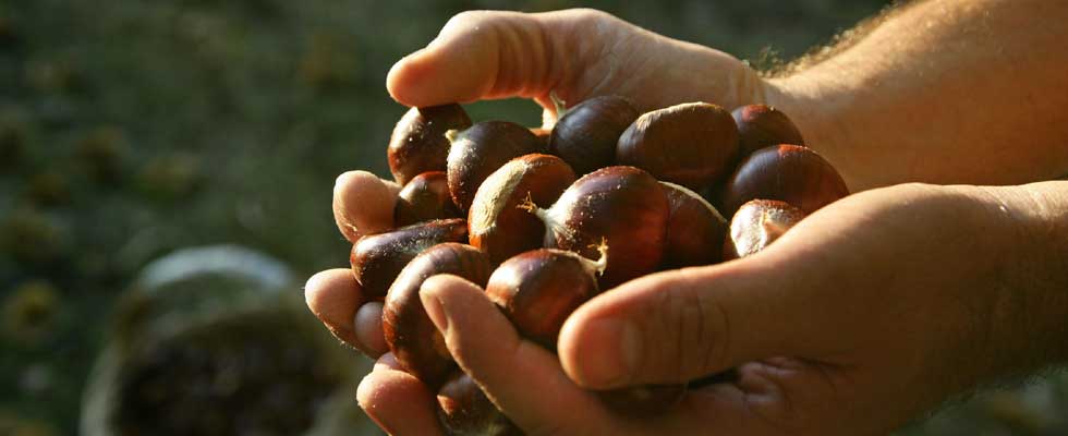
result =
[[[854,191],[1068,173],[1068,3],[930,0],[768,81]]]

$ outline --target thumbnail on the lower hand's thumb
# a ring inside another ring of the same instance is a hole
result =
[[[582,378],[596,388],[611,388],[626,384],[638,370],[642,353],[641,335],[633,323],[618,319],[598,319],[586,327],[586,354],[583,356]]]

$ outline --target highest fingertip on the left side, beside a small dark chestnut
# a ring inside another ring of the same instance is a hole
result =
[[[356,242],[364,234],[393,227],[393,206],[400,190],[390,183],[367,171],[338,177],[333,185],[333,219],[347,240]]]

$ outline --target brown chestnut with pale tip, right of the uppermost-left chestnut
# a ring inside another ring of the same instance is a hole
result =
[[[446,137],[451,144],[449,194],[464,214],[489,174],[511,159],[545,152],[530,129],[508,121],[485,121],[466,130],[450,130]]]

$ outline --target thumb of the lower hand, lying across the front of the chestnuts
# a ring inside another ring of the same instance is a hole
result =
[[[593,389],[677,384],[813,350],[829,325],[806,284],[818,272],[765,254],[651,275],[591,300],[560,331],[565,372]]]

